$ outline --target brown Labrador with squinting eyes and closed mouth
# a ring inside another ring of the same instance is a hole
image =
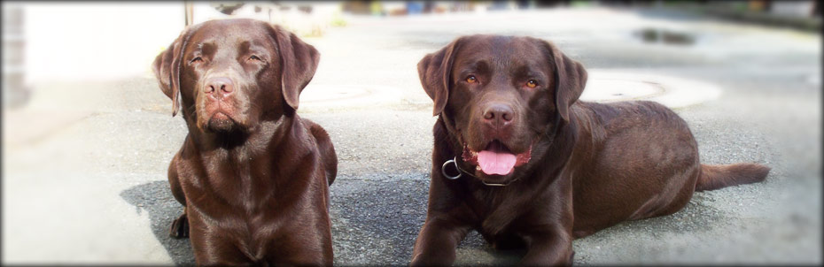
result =
[[[154,61],[189,134],[169,165],[199,265],[331,265],[329,186],[338,159],[295,113],[319,55],[280,27],[214,20],[183,30]],[[179,102],[179,104],[178,104]]]

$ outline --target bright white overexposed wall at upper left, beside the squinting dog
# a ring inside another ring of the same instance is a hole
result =
[[[29,84],[151,73],[154,57],[185,24],[183,2],[24,5]]]

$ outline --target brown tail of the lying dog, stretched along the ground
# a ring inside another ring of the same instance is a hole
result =
[[[701,174],[696,181],[696,191],[715,190],[763,181],[770,167],[762,164],[701,164]]]

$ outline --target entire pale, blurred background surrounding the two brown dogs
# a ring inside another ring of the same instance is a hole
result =
[[[431,99],[417,61],[465,34],[555,42],[583,100],[651,100],[707,164],[773,167],[685,210],[575,240],[576,263],[821,263],[820,1],[3,2],[2,260],[193,263],[167,228],[186,134],[151,64],[183,27],[254,18],[321,52],[299,114],[326,128],[335,263],[403,265],[423,225]],[[514,263],[476,233],[457,263]]]

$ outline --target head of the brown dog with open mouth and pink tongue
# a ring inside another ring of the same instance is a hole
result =
[[[569,121],[587,82],[582,65],[530,37],[464,36],[417,66],[463,161],[478,179],[496,183],[546,152],[551,140],[540,141]]]

